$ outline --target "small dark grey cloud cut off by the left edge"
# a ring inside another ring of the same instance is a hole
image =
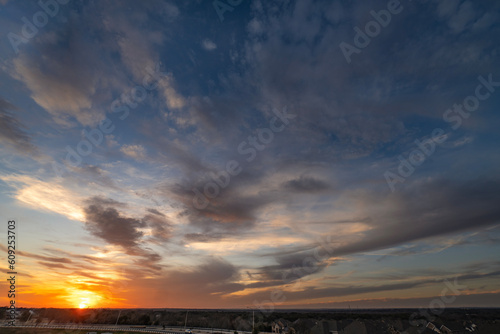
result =
[[[31,137],[24,131],[25,127],[9,110],[14,111],[17,108],[0,98],[0,143],[15,148],[21,154],[37,153],[37,148],[32,144]]]

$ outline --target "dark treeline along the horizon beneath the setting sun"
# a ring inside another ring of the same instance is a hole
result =
[[[7,307],[0,308],[0,314],[7,316]],[[58,309],[18,308],[18,322],[56,322],[75,324],[112,324],[117,320],[120,325],[155,325],[184,327],[186,310],[172,309]],[[271,324],[278,319],[293,323],[297,334],[307,334],[311,325],[320,320],[408,320],[413,312],[410,309],[378,309],[378,310],[318,310],[318,311],[284,311],[260,313],[255,312],[255,329],[258,332],[271,332]],[[491,320],[498,321],[499,309],[445,309],[439,314],[443,321]],[[418,318],[418,317],[417,317]],[[299,321],[297,321],[299,320]],[[205,327],[232,329],[238,331],[252,330],[252,311],[236,310],[190,310],[187,317],[187,328]]]

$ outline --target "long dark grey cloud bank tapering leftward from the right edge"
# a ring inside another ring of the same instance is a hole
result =
[[[383,212],[365,212],[374,229],[359,242],[336,247],[333,255],[389,248],[498,224],[499,201],[500,182],[481,178],[460,183],[444,179],[418,182],[383,200],[372,194],[365,203],[387,205]]]

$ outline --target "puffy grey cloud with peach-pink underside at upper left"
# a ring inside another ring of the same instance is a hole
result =
[[[104,112],[92,108],[91,97],[98,78],[85,57],[88,50],[83,49],[84,45],[78,44],[78,37],[71,33],[60,37],[68,42],[67,48],[48,43],[40,48],[41,54],[23,53],[14,59],[14,76],[26,84],[33,100],[49,112],[56,123],[69,126],[70,117],[74,117],[82,125],[95,125],[103,119]]]

